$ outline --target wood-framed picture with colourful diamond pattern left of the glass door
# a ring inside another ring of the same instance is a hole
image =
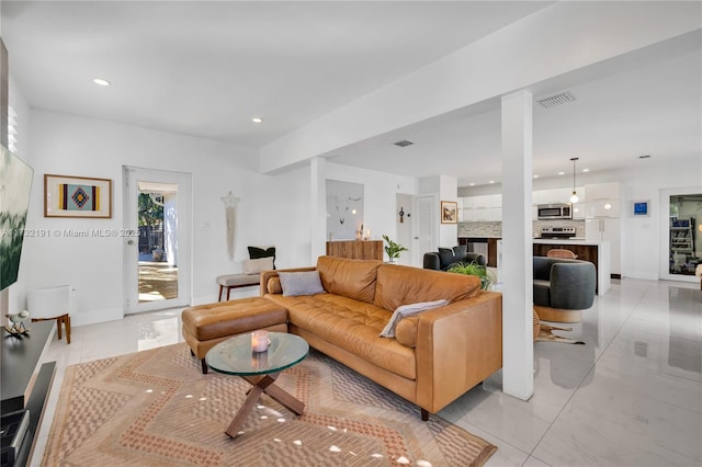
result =
[[[44,175],[44,217],[112,217],[112,180]]]

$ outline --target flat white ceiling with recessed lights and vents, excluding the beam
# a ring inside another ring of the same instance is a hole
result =
[[[3,1],[0,33],[33,107],[257,147],[550,3]],[[534,173],[567,172],[571,157],[591,170],[643,153],[699,157],[700,37],[535,86],[536,98],[577,100],[534,106]],[[499,181],[499,101],[328,156],[460,185]]]

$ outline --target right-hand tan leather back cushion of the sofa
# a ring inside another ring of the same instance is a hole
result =
[[[399,264],[381,264],[377,269],[375,305],[386,310],[419,301],[450,301],[474,297],[480,292],[479,277],[446,274]]]

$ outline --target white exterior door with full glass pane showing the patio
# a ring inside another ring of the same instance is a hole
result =
[[[189,305],[190,174],[126,167],[124,181],[126,314]]]

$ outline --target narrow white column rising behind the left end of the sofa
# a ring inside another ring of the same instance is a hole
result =
[[[317,264],[317,258],[327,252],[327,160],[320,157],[309,161],[310,216],[309,216],[309,257],[310,265]]]

